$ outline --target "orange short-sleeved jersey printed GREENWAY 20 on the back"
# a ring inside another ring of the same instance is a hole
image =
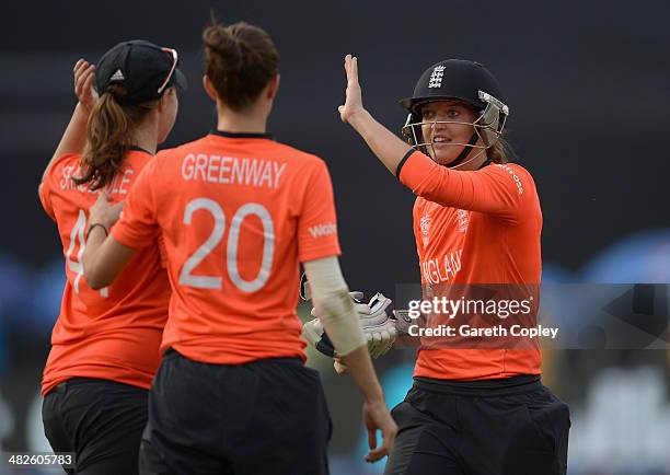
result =
[[[162,349],[196,361],[304,360],[299,263],[339,254],[325,163],[263,134],[210,135],[160,152],[114,238],[161,233],[172,285]]]

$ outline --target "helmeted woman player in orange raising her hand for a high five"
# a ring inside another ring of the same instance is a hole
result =
[[[363,108],[357,59],[347,55],[345,69],[342,119],[417,195],[424,288],[536,289],[542,212],[530,173],[507,163],[500,135],[509,109],[490,72],[455,59],[428,68],[402,102],[408,150]],[[398,436],[385,474],[566,473],[569,412],[540,382],[536,340],[464,349],[425,339],[414,386],[393,409]]]

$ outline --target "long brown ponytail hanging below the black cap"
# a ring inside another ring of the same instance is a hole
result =
[[[95,190],[112,183],[132,146],[132,129],[155,104],[122,106],[117,97],[125,93],[123,85],[112,84],[93,106],[86,126],[81,175],[72,177],[77,185],[90,183],[90,188]]]

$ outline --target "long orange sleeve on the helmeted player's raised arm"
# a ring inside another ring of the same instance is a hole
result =
[[[524,185],[528,186],[521,170],[509,164],[475,171],[450,170],[417,151],[407,158],[398,178],[415,195],[439,205],[519,221]]]

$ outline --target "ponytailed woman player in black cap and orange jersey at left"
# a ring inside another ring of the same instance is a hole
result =
[[[79,474],[137,473],[170,282],[154,241],[102,289],[86,285],[81,258],[88,209],[101,194],[125,199],[172,129],[175,85],[184,85],[176,61],[175,50],[143,40],[116,45],[97,67],[78,61],[80,102],[39,185],[67,275],[44,369],[43,419],[54,450],[76,452]]]

